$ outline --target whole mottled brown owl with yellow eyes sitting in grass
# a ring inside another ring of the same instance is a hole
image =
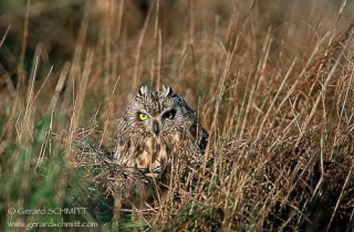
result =
[[[115,159],[129,159],[145,176],[160,179],[180,154],[200,157],[207,139],[196,113],[169,86],[158,92],[143,86],[119,120]]]

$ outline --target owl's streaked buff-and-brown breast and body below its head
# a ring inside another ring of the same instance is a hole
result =
[[[119,137],[119,136],[118,136]],[[195,143],[190,143],[195,141]],[[131,131],[129,137],[118,139],[118,154],[129,158],[142,173],[159,179],[170,165],[171,158],[200,157],[208,143],[208,134],[196,123],[186,124],[178,133],[159,136]]]

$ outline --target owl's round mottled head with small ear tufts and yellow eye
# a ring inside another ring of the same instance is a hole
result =
[[[195,119],[187,103],[166,85],[158,92],[142,86],[126,108],[124,120],[134,133],[145,136],[165,136],[181,133]]]

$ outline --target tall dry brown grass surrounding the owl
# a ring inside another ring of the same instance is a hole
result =
[[[105,193],[119,179],[100,152],[114,145],[117,119],[143,84],[168,84],[184,96],[210,143],[192,191],[171,175],[178,200],[158,198],[138,218],[127,209],[121,230],[353,230],[354,22],[346,1],[156,0],[145,15],[132,1],[76,1],[62,6],[76,21],[69,17],[72,23],[58,25],[61,36],[46,42],[33,30],[46,39],[41,22],[55,25],[50,15],[59,7],[28,2],[0,15],[1,230],[13,230],[9,220],[62,219],[113,230]],[[92,149],[88,164],[77,144]],[[43,205],[92,214],[7,212]]]

